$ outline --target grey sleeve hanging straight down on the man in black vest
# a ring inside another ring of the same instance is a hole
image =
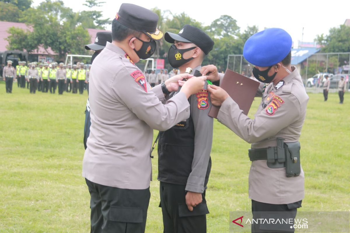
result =
[[[208,96],[207,100],[208,105],[205,107],[202,106],[201,108],[198,100],[201,101],[196,95],[191,96],[190,109],[195,129],[195,148],[192,161],[192,172],[187,179],[185,190],[203,193],[204,180],[205,175],[207,174],[213,140],[213,118],[208,116],[211,108],[210,96]],[[202,104],[203,101],[205,100],[202,99]]]

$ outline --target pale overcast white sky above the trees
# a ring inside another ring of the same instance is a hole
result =
[[[350,19],[350,1],[348,0],[215,0],[211,1],[105,1],[103,7],[93,8],[101,10],[104,18],[113,19],[121,3],[128,2],[151,9],[158,7],[161,10],[170,10],[173,14],[182,12],[192,19],[208,26],[221,15],[230,15],[237,21],[243,32],[247,26],[264,28],[283,28],[293,39],[294,48],[298,41],[313,42],[316,35],[327,35],[329,29],[339,27],[346,19]],[[34,0],[37,6],[42,0]],[[75,12],[89,10],[83,6],[85,0],[63,0],[64,5]],[[199,3],[202,2],[202,5]],[[106,28],[111,30],[111,26]],[[350,39],[350,38],[349,38]]]

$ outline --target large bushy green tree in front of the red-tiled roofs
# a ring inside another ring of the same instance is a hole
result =
[[[10,28],[7,38],[9,49],[32,52],[39,45],[49,47],[64,58],[66,53],[86,54],[84,44],[90,43],[90,35],[82,24],[75,20],[79,16],[62,1],[46,0],[37,8],[23,12],[21,21],[31,28],[30,31]]]

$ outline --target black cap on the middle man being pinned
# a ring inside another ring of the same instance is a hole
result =
[[[205,54],[208,54],[214,47],[214,41],[205,34],[204,31],[188,24],[183,26],[178,34],[166,32],[164,39],[172,44],[174,44],[175,41],[194,43],[201,48]]]

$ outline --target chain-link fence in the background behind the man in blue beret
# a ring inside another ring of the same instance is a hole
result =
[[[322,88],[324,75],[328,74],[331,81],[330,88],[337,88],[338,81],[343,77],[349,82],[350,52],[349,53],[313,53],[303,54],[307,58],[298,60],[292,57],[292,64],[297,67],[306,87]],[[253,65],[243,55],[229,55],[227,68],[237,73],[251,77]],[[349,88],[349,85],[348,85]]]

